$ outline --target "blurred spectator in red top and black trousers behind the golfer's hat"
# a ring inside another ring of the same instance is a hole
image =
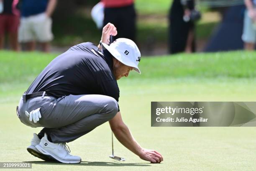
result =
[[[136,11],[134,0],[101,0],[104,4],[104,23],[113,23],[118,30],[117,38],[129,38],[135,41]]]

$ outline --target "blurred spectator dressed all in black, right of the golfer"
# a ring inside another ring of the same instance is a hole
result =
[[[194,0],[174,0],[169,13],[169,52],[195,52],[195,20],[200,13]]]

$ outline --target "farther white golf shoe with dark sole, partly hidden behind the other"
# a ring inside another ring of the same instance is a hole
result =
[[[42,154],[36,149],[36,145],[38,145],[40,141],[41,140],[38,138],[37,134],[34,133],[33,138],[31,140],[31,145],[27,147],[28,153],[31,153],[33,156],[41,158],[42,160],[45,160],[45,161],[56,161],[55,159],[49,158],[48,156]]]

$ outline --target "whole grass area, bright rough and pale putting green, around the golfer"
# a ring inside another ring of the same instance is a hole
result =
[[[36,171],[253,171],[256,128],[152,127],[151,101],[255,101],[256,53],[234,51],[177,54],[145,58],[142,74],[121,79],[120,110],[124,122],[144,148],[159,151],[164,161],[151,164],[125,149],[117,140],[113,161],[108,123],[68,143],[80,164],[47,163],[27,151],[32,133],[18,120],[15,106],[33,79],[57,54],[0,51],[0,161],[28,161]]]

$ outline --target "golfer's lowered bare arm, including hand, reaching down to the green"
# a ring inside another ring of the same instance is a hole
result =
[[[138,155],[141,159],[150,161],[151,163],[160,163],[163,157],[160,153],[154,150],[142,148],[131,135],[128,127],[123,123],[121,113],[118,112],[112,120],[109,121],[110,128],[115,134],[115,137],[130,151]]]

